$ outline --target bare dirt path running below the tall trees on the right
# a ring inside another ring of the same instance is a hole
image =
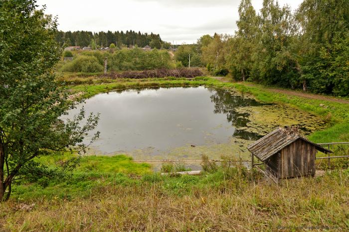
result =
[[[230,82],[229,80],[227,80],[224,77],[212,77],[214,79],[217,79],[221,82]],[[239,84],[243,84],[246,86],[256,86],[253,83],[246,83],[246,82],[237,82]],[[258,86],[259,87],[259,86]],[[279,93],[279,94],[286,94],[286,95],[290,95],[290,96],[297,96],[297,97],[302,97],[302,98],[307,98],[307,99],[316,99],[316,100],[323,100],[323,101],[329,101],[329,102],[337,102],[337,103],[344,103],[344,104],[349,104],[348,100],[344,100],[344,99],[339,99],[339,98],[334,98],[331,96],[324,96],[324,95],[317,95],[317,94],[310,94],[310,93],[304,93],[301,91],[294,91],[294,90],[285,90],[285,89],[277,89],[277,88],[268,88],[268,87],[264,87],[264,90],[270,91],[270,92],[274,92],[274,93]]]

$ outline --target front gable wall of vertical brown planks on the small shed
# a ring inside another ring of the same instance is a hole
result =
[[[303,139],[283,148],[279,160],[279,178],[315,175],[316,151],[313,144]]]

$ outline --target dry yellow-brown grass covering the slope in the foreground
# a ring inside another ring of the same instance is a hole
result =
[[[110,184],[89,198],[44,197],[0,205],[2,231],[303,231],[349,230],[349,177],[267,182],[230,180],[216,188],[191,187],[182,196],[162,182],[123,187]],[[289,227],[289,228],[286,228]]]

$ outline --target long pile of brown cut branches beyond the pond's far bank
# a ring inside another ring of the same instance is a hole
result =
[[[155,69],[145,71],[125,71],[121,73],[111,73],[103,75],[103,77],[110,79],[129,78],[129,79],[145,79],[145,78],[194,78],[203,76],[203,73],[198,68],[181,68],[181,69]]]

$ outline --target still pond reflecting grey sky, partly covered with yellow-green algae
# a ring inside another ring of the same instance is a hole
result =
[[[325,126],[296,109],[206,87],[113,91],[88,99],[84,108],[101,114],[101,135],[89,153],[128,154],[135,160],[200,159],[202,154],[246,159],[247,145],[278,126],[299,125],[304,134]]]

